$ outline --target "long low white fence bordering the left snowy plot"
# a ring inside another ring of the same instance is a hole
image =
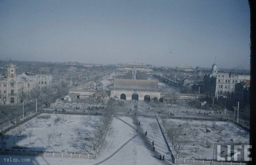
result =
[[[41,153],[41,152],[16,152],[16,151],[0,151],[4,155],[29,155],[29,156],[43,156],[43,157],[69,157],[69,158],[89,158],[97,159],[97,155],[90,154],[67,154],[67,153]]]

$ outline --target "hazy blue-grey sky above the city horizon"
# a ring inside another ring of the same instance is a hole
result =
[[[0,60],[250,68],[246,0],[1,0]]]

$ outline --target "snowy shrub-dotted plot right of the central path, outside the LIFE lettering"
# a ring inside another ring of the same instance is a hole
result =
[[[212,159],[214,143],[249,143],[249,132],[232,122],[167,119],[166,126],[181,129],[181,137],[188,141],[179,158]]]

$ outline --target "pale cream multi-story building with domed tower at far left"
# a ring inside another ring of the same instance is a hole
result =
[[[15,104],[52,90],[52,76],[25,72],[16,75],[16,65],[10,60],[0,76],[0,104]]]

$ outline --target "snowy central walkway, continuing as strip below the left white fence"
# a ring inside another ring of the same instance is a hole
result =
[[[83,158],[52,158],[31,156],[0,155],[0,164],[4,158],[30,158],[29,164],[40,165],[159,165],[172,164],[168,150],[154,118],[138,118],[141,122],[138,126],[134,117],[115,117],[106,136],[105,142],[100,148],[98,159]],[[138,133],[136,129],[138,128]],[[145,136],[144,132],[148,131]],[[75,136],[75,135],[74,135]],[[155,151],[152,150],[152,141],[155,142]],[[165,154],[165,161],[159,160],[159,155]],[[8,162],[8,164],[28,164],[28,162]]]

